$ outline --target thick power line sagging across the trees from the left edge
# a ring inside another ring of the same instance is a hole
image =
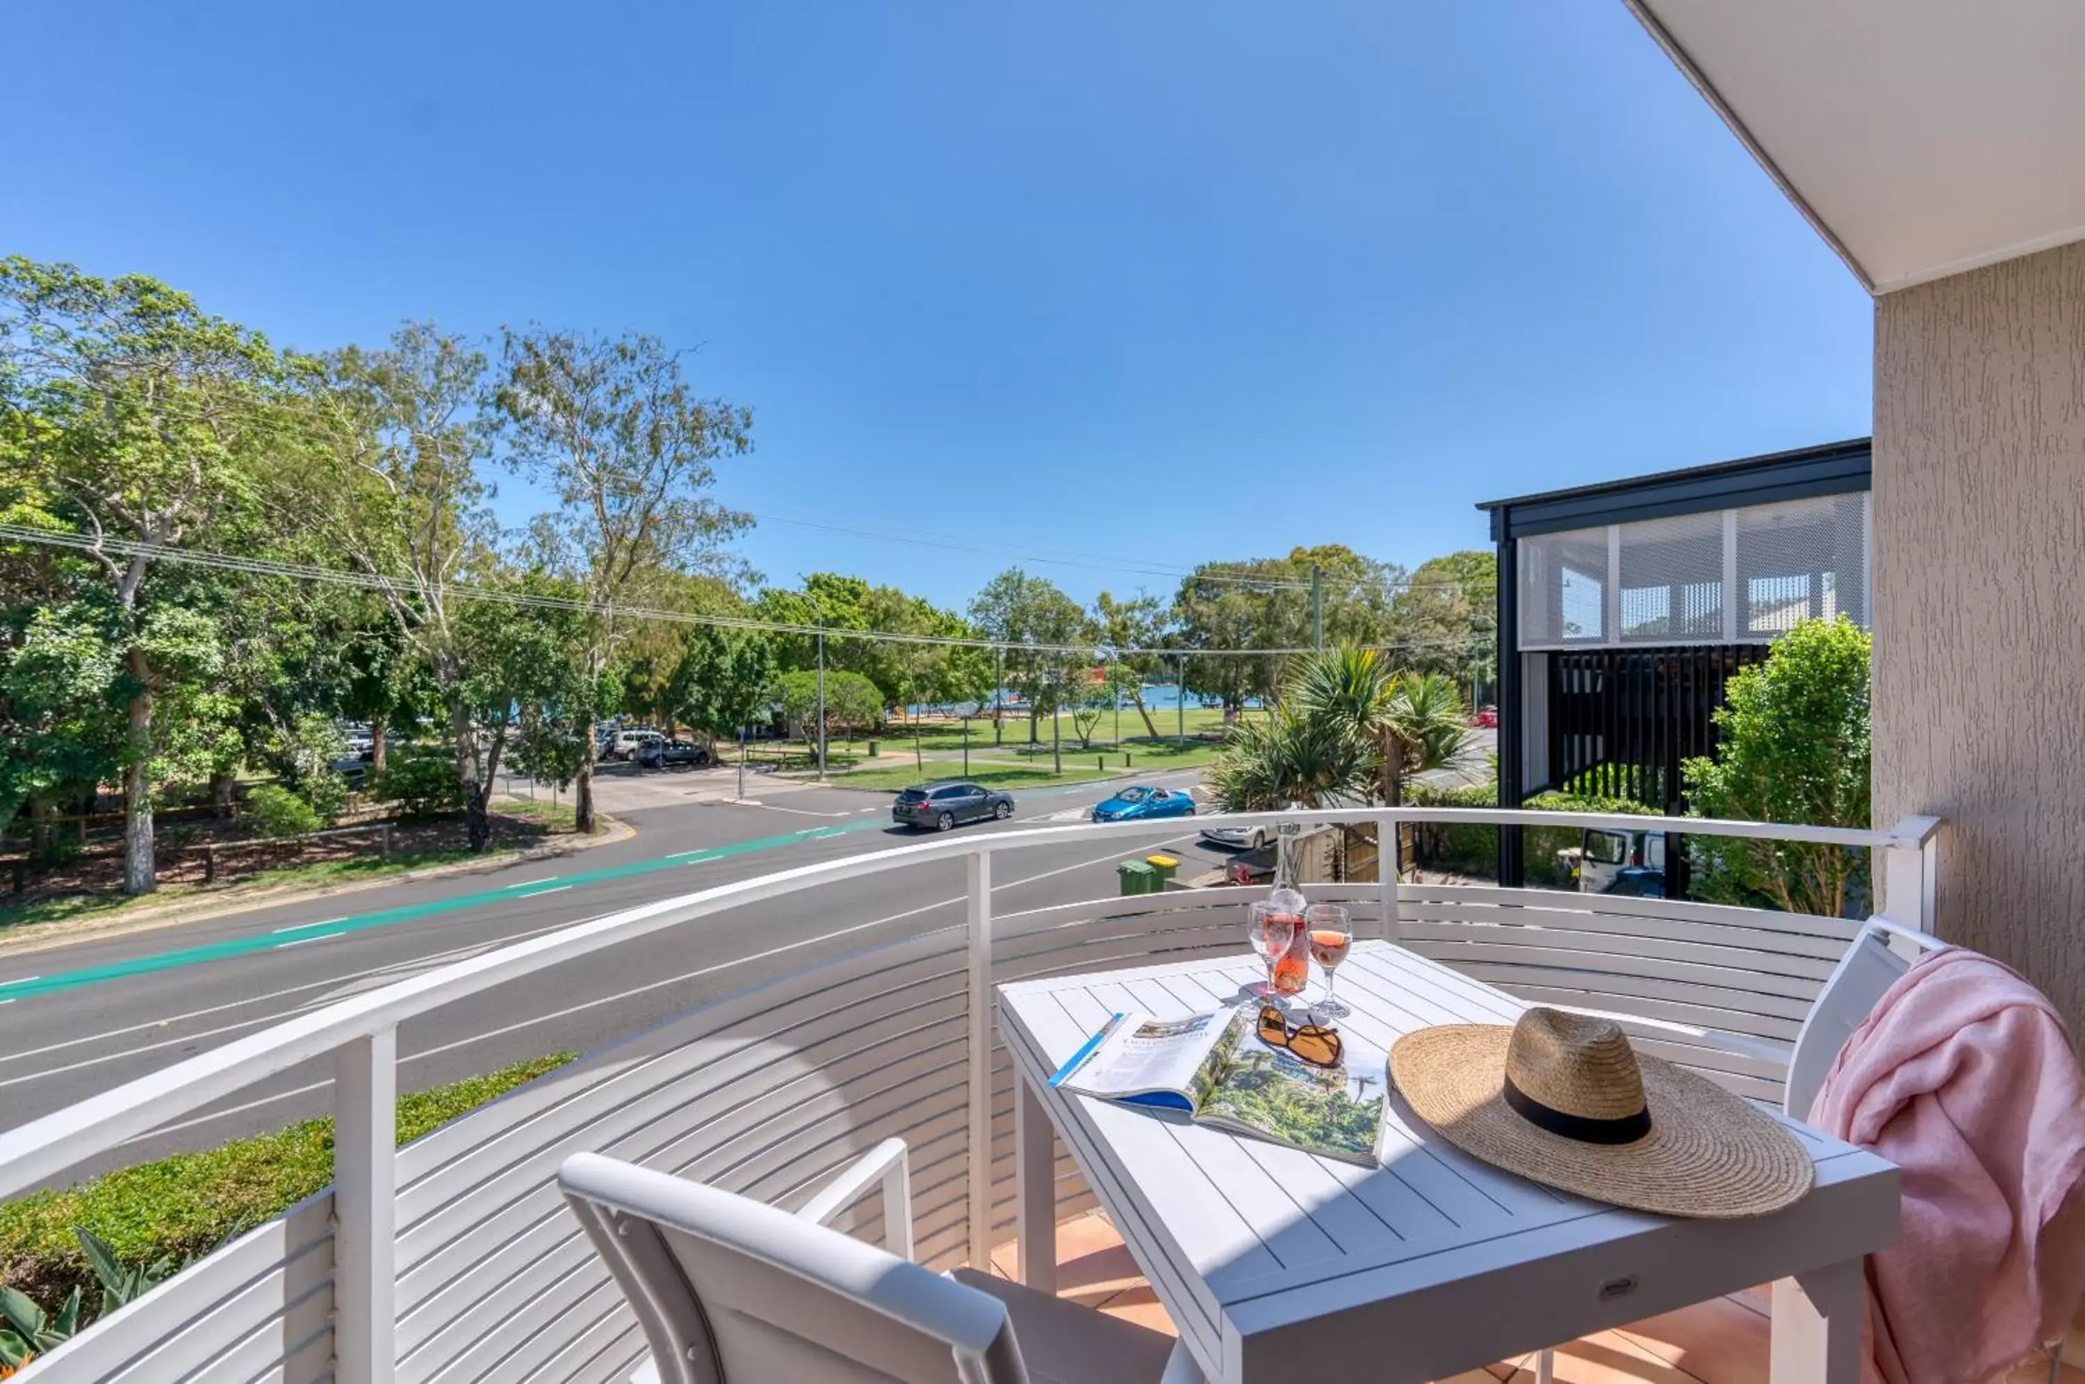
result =
[[[163,563],[181,563],[188,567],[206,567],[213,571],[238,571],[263,577],[290,577],[298,582],[317,582],[325,586],[348,586],[357,590],[386,592],[394,596],[417,596],[419,588],[402,577],[386,577],[377,573],[361,571],[340,571],[334,567],[311,567],[306,563],[284,563],[275,559],[254,559],[240,557],[231,552],[211,552],[204,548],[175,548],[169,544],[146,544],[125,538],[92,538],[88,534],[65,534],[56,529],[35,529],[17,523],[0,523],[0,540],[42,544],[48,548],[67,548],[73,552],[100,552],[115,557],[146,557]],[[450,582],[444,586],[448,596],[457,600],[486,600],[494,604],[538,609],[538,611],[573,611],[584,615],[609,615],[628,619],[657,619],[665,623],[680,625],[715,625],[723,629],[755,629],[763,634],[801,634],[817,636],[824,634],[830,640],[884,640],[892,644],[930,644],[945,648],[1001,648],[1009,652],[1049,652],[1049,654],[1076,654],[1080,659],[1093,657],[1193,657],[1193,659],[1270,659],[1311,652],[1309,648],[1166,648],[1166,646],[1105,646],[1105,644],[1042,644],[1042,642],[1015,642],[1015,640],[976,640],[965,636],[945,636],[945,634],[911,634],[911,632],[890,632],[890,629],[840,629],[836,625],[805,625],[792,621],[774,619],[751,619],[740,615],[705,615],[694,611],[663,611],[657,607],[634,607],[617,604],[605,600],[582,600],[571,596],[542,596],[536,592],[513,592],[486,586],[473,586],[467,582]],[[1391,644],[1368,644],[1380,652],[1395,648],[1464,648],[1468,640],[1397,640]]]

